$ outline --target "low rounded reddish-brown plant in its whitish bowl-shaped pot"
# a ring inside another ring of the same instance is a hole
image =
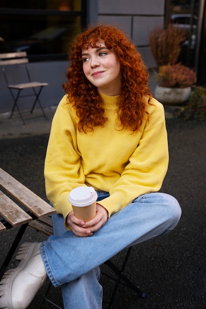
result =
[[[163,104],[178,105],[186,102],[191,94],[191,87],[197,82],[196,73],[181,63],[160,66],[155,72],[160,82],[156,86],[154,97]]]

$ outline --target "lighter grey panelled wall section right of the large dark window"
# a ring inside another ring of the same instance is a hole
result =
[[[149,34],[164,23],[165,0],[98,0],[98,21],[117,26],[137,45],[145,64],[155,67]]]

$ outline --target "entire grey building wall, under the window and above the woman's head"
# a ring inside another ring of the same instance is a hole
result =
[[[155,26],[163,24],[164,5],[165,0],[87,0],[88,24],[109,23],[127,32],[137,44],[146,66],[151,68],[156,64],[148,46],[149,33]],[[49,83],[40,95],[44,107],[57,105],[64,95],[62,83],[65,81],[68,65],[68,61],[29,64],[33,80]],[[13,77],[15,75],[16,72]],[[0,71],[0,113],[10,111],[12,105],[12,98]],[[28,110],[31,106],[32,102],[28,99],[21,101],[21,110]]]

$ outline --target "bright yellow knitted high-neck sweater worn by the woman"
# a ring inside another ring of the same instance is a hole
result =
[[[159,191],[168,169],[162,104],[152,99],[153,105],[147,105],[149,121],[143,122],[141,132],[133,133],[118,130],[115,124],[119,96],[100,95],[108,117],[104,127],[79,132],[76,112],[66,104],[67,95],[52,121],[44,168],[46,194],[64,218],[72,210],[69,192],[78,186],[109,192],[99,203],[111,216],[137,196]]]

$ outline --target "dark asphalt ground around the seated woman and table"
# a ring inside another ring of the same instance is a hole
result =
[[[166,107],[168,111],[168,107]],[[46,199],[43,166],[55,107],[26,113],[26,124],[19,116],[0,115],[0,167]],[[113,309],[205,309],[206,308],[206,122],[183,121],[167,114],[170,150],[169,170],[161,191],[175,196],[182,217],[174,231],[133,247],[126,268],[127,275],[149,295],[139,299],[135,292],[121,285]],[[17,229],[0,234],[0,263]],[[24,241],[42,241],[46,236],[28,228]],[[117,264],[125,252],[113,258]],[[13,259],[9,268],[15,267]],[[103,272],[111,274],[103,265]],[[103,309],[114,282],[102,275]],[[45,285],[36,294],[29,309],[36,309]],[[52,288],[49,299],[62,306],[59,288]],[[43,309],[54,308],[49,303]],[[71,308],[79,309],[79,308]],[[95,308],[94,308],[95,309]]]

